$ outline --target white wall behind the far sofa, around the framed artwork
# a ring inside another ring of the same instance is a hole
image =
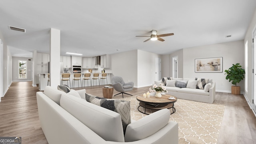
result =
[[[244,41],[185,48],[183,56],[184,78],[211,78],[216,82],[216,91],[231,92],[232,84],[226,80],[224,70],[236,63],[240,63],[244,68]],[[223,72],[195,72],[195,59],[214,57],[223,57]],[[241,92],[244,92],[244,80],[237,86],[241,86]]]

